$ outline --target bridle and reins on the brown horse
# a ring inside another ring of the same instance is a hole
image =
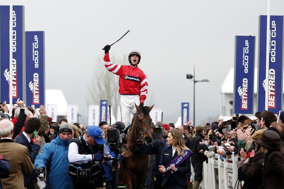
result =
[[[135,150],[138,150],[138,147],[137,147],[137,146],[135,147],[134,150],[131,150],[130,148],[131,148],[131,146],[137,141],[137,139],[142,139],[142,140],[143,140],[145,133],[148,133],[149,136],[151,136],[151,134],[150,134],[149,131],[148,131],[149,129],[151,129],[151,127],[149,127],[149,128],[147,128],[146,130],[144,130],[144,129],[142,129],[142,128],[140,128],[140,127],[138,126],[138,115],[139,115],[140,113],[142,113],[142,111],[136,113],[136,115],[135,115],[135,116],[136,116],[135,130],[138,132],[138,136],[137,136],[137,138],[134,140],[134,142],[133,142],[129,147],[128,147],[128,144],[127,144],[127,143],[123,146],[126,150],[125,150],[125,152],[122,152],[122,153],[121,153],[122,157],[129,157],[129,156],[132,156],[133,152],[134,152]],[[131,126],[131,127],[132,127],[132,126]],[[129,128],[129,131],[128,131],[127,135],[126,135],[126,138],[127,138],[127,136],[130,134],[130,132],[131,132],[131,127]],[[142,132],[142,131],[143,131],[143,132]],[[141,134],[141,136],[140,136],[139,134]],[[152,139],[152,136],[151,136],[151,139]],[[126,146],[126,147],[125,147],[125,146]],[[129,154],[129,155],[125,155],[125,153],[126,153],[127,151],[130,151],[130,154]]]

